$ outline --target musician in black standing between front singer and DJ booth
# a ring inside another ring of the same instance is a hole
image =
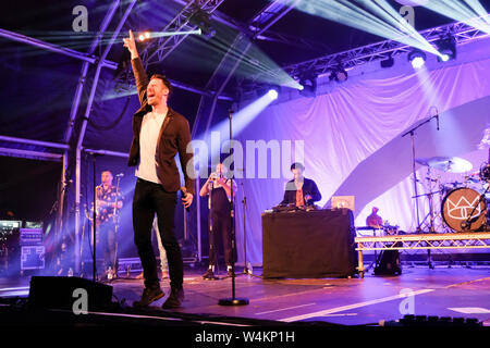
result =
[[[231,247],[231,196],[236,192],[236,184],[226,177],[228,170],[219,163],[216,172],[211,173],[206,184],[200,189],[200,197],[209,195],[209,268],[203,275],[205,279],[216,279],[216,266],[218,264],[218,238],[223,245],[226,275],[232,274],[233,254]]]

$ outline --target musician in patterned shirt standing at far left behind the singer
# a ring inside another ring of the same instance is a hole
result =
[[[113,175],[105,170],[100,174],[101,184],[96,187],[97,231],[103,252],[103,281],[118,277],[118,219],[123,207],[123,197],[119,185],[112,185]],[[118,182],[119,184],[119,182]]]

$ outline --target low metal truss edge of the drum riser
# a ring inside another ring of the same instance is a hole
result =
[[[358,266],[364,277],[363,251],[375,250],[446,250],[446,249],[485,249],[490,248],[489,232],[461,232],[444,234],[412,234],[393,236],[356,237]]]

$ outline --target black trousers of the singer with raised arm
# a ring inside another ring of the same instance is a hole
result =
[[[159,285],[157,259],[151,246],[151,225],[157,213],[158,229],[169,262],[170,286],[184,283],[184,262],[175,237],[176,192],[168,192],[159,184],[138,178],[133,198],[134,243],[138,250],[145,287]]]

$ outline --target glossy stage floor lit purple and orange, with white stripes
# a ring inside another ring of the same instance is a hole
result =
[[[280,322],[320,321],[341,325],[377,325],[394,321],[407,312],[416,315],[476,318],[490,326],[490,268],[446,265],[429,269],[403,269],[400,276],[375,276],[369,271],[364,278],[262,279],[241,274],[235,278],[236,297],[249,304],[219,306],[221,298],[232,296],[232,279],[204,281],[204,270],[185,270],[185,301],[174,312],[234,316]],[[260,269],[254,269],[260,274]],[[223,274],[221,274],[223,276]],[[0,279],[0,297],[27,296],[28,277]],[[138,299],[143,281],[117,279],[114,300],[132,303]],[[169,293],[169,281],[161,286]],[[407,297],[408,295],[409,297]],[[155,313],[167,296],[151,304]],[[164,313],[164,312],[162,312]]]

